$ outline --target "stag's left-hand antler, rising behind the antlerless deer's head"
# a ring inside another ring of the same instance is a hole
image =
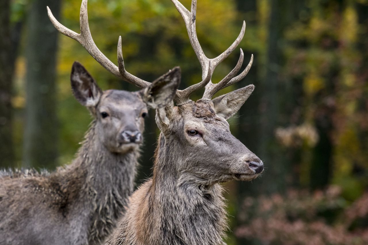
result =
[[[63,33],[64,35],[76,40],[79,42],[91,56],[102,65],[107,71],[110,71],[116,77],[121,78],[131,84],[138,86],[139,88],[146,88],[151,85],[150,82],[144,81],[141,78],[135,77],[134,75],[127,72],[124,68],[124,60],[123,60],[123,53],[121,51],[121,36],[118,40],[117,46],[117,58],[118,58],[118,67],[112,63],[106,56],[103,54],[98,47],[96,46],[95,42],[93,41],[91,31],[89,30],[88,25],[88,12],[87,12],[87,2],[88,0],[82,0],[81,5],[81,12],[79,17],[79,23],[81,27],[81,33],[78,34],[64,25],[61,25],[59,21],[54,17],[49,7],[47,7],[47,14],[55,26],[55,28]]]

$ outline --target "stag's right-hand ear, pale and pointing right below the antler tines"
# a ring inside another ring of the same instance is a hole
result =
[[[216,114],[225,119],[233,116],[251,95],[254,85],[248,85],[212,100]]]

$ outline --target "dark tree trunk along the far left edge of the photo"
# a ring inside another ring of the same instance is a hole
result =
[[[10,0],[0,1],[0,168],[14,165],[12,139],[13,53],[10,31]]]

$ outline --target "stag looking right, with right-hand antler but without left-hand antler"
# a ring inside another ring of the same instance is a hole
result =
[[[238,74],[244,60],[218,83],[216,66],[236,49],[244,37],[245,22],[238,38],[222,54],[208,58],[196,33],[197,0],[187,10],[171,0],[184,19],[191,46],[202,67],[202,81],[177,90],[174,101],[156,110],[160,129],[153,176],[131,196],[130,206],[106,245],[219,245],[225,244],[227,213],[222,182],[250,181],[263,171],[263,162],[230,132],[226,121],[254,90],[254,85],[212,97],[247,75]],[[238,74],[238,75],[237,75]],[[196,102],[190,95],[205,88]],[[174,106],[174,102],[176,106]]]

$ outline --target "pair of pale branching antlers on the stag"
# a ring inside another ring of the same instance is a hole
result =
[[[203,79],[198,84],[194,84],[184,90],[177,90],[174,100],[177,103],[185,103],[189,100],[189,97],[193,92],[203,87],[205,87],[205,92],[202,98],[211,99],[212,96],[215,95],[215,93],[218,92],[219,90],[226,88],[227,86],[230,86],[240,81],[241,79],[243,79],[245,75],[247,75],[248,71],[250,70],[250,67],[253,62],[253,55],[251,57],[249,64],[245,68],[245,70],[235,77],[235,75],[240,70],[241,65],[243,64],[243,60],[244,60],[243,50],[240,49],[240,58],[239,58],[239,61],[236,67],[219,83],[213,84],[211,81],[213,71],[215,70],[217,65],[220,64],[225,58],[227,58],[230,55],[230,53],[236,49],[236,47],[239,45],[241,40],[243,40],[244,33],[245,33],[245,21],[243,22],[243,26],[241,28],[240,34],[238,38],[234,41],[234,43],[216,58],[208,58],[204,54],[202,47],[199,44],[197,32],[196,32],[195,19],[196,19],[196,11],[197,11],[197,0],[192,0],[191,11],[188,11],[183,6],[183,4],[181,4],[178,0],[171,0],[171,1],[174,3],[175,7],[177,8],[177,10],[179,11],[179,13],[184,19],[191,45],[194,49],[195,54],[197,55],[199,62],[201,63],[202,79]],[[116,77],[121,78],[127,82],[130,82],[131,84],[134,84],[138,86],[139,88],[146,88],[150,86],[151,85],[150,82],[147,82],[147,81],[142,80],[141,78],[135,77],[134,75],[130,74],[127,70],[125,70],[123,52],[121,49],[121,36],[119,36],[118,46],[117,46],[118,66],[112,63],[98,49],[95,42],[93,41],[91,31],[89,30],[87,2],[88,0],[82,0],[82,4],[81,4],[80,19],[79,19],[80,28],[81,28],[80,34],[60,24],[60,22],[57,21],[57,19],[53,16],[49,7],[47,7],[47,13],[49,15],[49,18],[52,24],[55,26],[55,28],[59,32],[79,42],[88,51],[88,53],[91,54],[91,56],[98,63],[100,63],[107,71],[110,71]]]

